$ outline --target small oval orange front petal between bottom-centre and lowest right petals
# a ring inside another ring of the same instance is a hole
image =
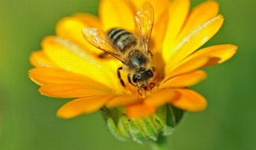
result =
[[[144,101],[144,104],[160,107],[161,105],[164,105],[171,101],[176,96],[176,93],[174,90],[171,89],[164,89],[164,90],[158,90],[155,93],[152,93],[150,97],[147,97]]]

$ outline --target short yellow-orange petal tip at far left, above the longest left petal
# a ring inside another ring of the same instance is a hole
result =
[[[50,60],[49,57],[42,50],[38,50],[32,53],[29,58],[30,62],[35,67],[46,67],[46,68],[57,68],[58,66],[54,61]]]

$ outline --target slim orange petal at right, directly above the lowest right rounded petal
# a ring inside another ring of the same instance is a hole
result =
[[[205,71],[192,71],[167,80],[159,89],[193,86],[203,79],[206,79]]]

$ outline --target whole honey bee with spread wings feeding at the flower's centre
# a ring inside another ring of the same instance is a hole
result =
[[[154,9],[149,2],[144,3],[135,15],[135,30],[138,35],[122,28],[112,28],[105,32],[98,28],[85,28],[82,31],[83,38],[91,45],[102,49],[118,60],[122,67],[117,68],[117,76],[121,79],[121,69],[128,73],[128,82],[139,90],[153,85],[154,67],[152,66],[152,53],[150,53],[150,35],[154,24]],[[139,93],[140,94],[140,93]]]

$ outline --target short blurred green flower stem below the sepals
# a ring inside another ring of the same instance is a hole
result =
[[[162,135],[158,137],[158,141],[152,141],[150,144],[152,150],[170,150],[167,137]]]

